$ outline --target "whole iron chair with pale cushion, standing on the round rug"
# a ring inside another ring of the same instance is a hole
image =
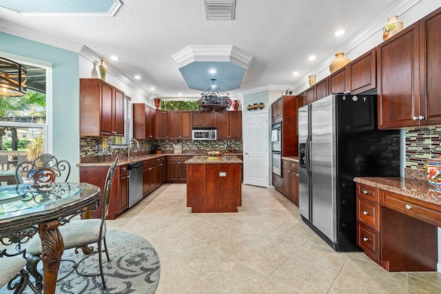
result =
[[[112,190],[112,180],[116,169],[116,164],[118,163],[119,156],[116,156],[115,161],[112,163],[112,166],[107,171],[107,176],[105,178],[104,189],[103,189],[103,214],[101,219],[90,219],[90,220],[68,220],[65,225],[59,227],[61,236],[63,237],[64,249],[72,249],[75,248],[75,253],[79,253],[80,249],[86,253],[84,258],[79,260],[79,262],[74,262],[73,260],[62,260],[73,262],[72,273],[76,271],[78,275],[82,275],[85,277],[95,277],[101,275],[101,281],[103,282],[103,288],[107,288],[104,280],[103,273],[103,258],[102,253],[105,252],[107,257],[107,261],[110,261],[109,253],[107,252],[107,244],[105,242],[105,218],[107,217],[107,213],[109,211],[109,198],[110,192]],[[97,243],[97,249],[94,250],[93,247],[89,247],[87,245]],[[104,244],[104,250],[103,250]],[[41,241],[40,238],[36,235],[32,238],[26,247],[26,253],[28,254],[28,264],[26,264],[26,269],[28,269],[29,273],[35,277],[36,282],[35,286],[41,291],[43,288],[42,276],[41,273],[37,271],[37,264],[41,260]],[[99,274],[93,275],[85,275],[78,271],[79,263],[85,260],[85,258],[90,257],[92,254],[99,254]],[[68,273],[64,277],[70,275]],[[61,277],[59,280],[63,280],[64,277]]]

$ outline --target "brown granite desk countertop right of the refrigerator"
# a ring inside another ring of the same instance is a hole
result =
[[[441,206],[441,191],[430,189],[427,180],[413,178],[354,178],[354,182]]]

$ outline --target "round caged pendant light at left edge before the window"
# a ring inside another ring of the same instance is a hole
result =
[[[27,79],[23,65],[0,57],[0,97],[25,96]]]

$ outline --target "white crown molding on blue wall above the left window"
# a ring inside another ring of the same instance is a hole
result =
[[[2,19],[0,19],[0,32],[5,32],[6,34],[12,34],[14,36],[19,36],[24,39],[43,43],[46,45],[51,45],[57,48],[77,53],[80,52],[81,48],[83,47],[83,44],[59,38],[58,36],[52,36],[50,34],[39,32],[37,30],[32,30],[31,28],[25,28],[15,23],[3,21]]]

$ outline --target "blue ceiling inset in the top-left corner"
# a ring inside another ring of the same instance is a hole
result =
[[[0,6],[21,13],[107,13],[115,0],[0,0]]]

